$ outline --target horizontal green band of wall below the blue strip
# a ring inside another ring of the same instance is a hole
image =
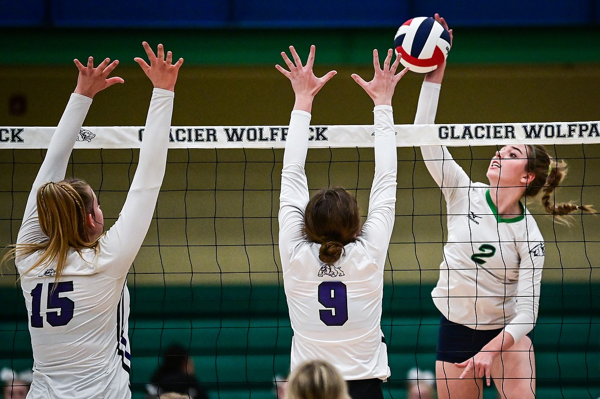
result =
[[[452,28],[452,26],[451,26]],[[600,26],[461,28],[451,60],[458,64],[599,62]],[[60,65],[73,58],[131,59],[143,40],[163,43],[194,65],[272,65],[293,45],[317,46],[328,64],[369,65],[370,52],[394,44],[397,26],[347,29],[66,29],[0,28],[0,65]]]

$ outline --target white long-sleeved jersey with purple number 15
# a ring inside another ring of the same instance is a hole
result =
[[[52,137],[25,209],[17,244],[47,240],[36,193],[61,181],[91,98],[72,94]],[[29,399],[130,398],[127,272],[148,231],[164,176],[173,92],[154,89],[140,160],[115,225],[97,252],[71,250],[55,284],[55,265],[28,271],[40,253],[17,257],[29,314],[34,376]]]

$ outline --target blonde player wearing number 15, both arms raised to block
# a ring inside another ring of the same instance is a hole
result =
[[[143,43],[150,65],[137,63],[154,84],[139,164],[115,225],[94,191],[64,180],[67,163],[92,98],[122,83],[107,76],[118,61],[94,68],[75,60],[77,87],[35,178],[14,249],[29,314],[34,374],[28,398],[130,398],[125,279],[148,231],[163,181],[173,89],[183,59]]]

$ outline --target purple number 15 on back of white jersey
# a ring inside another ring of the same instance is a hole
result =
[[[44,284],[38,283],[31,290],[31,326],[42,328],[44,318],[41,316],[41,296]],[[48,298],[46,299],[47,309],[59,309],[60,311],[47,311],[46,320],[53,327],[66,326],[73,319],[75,302],[66,296],[60,296],[61,293],[73,291],[73,281],[60,281],[56,284],[48,283]]]

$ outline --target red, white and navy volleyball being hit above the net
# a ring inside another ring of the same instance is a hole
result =
[[[450,52],[450,33],[431,17],[409,19],[394,37],[400,62],[417,73],[431,72],[446,60]]]

